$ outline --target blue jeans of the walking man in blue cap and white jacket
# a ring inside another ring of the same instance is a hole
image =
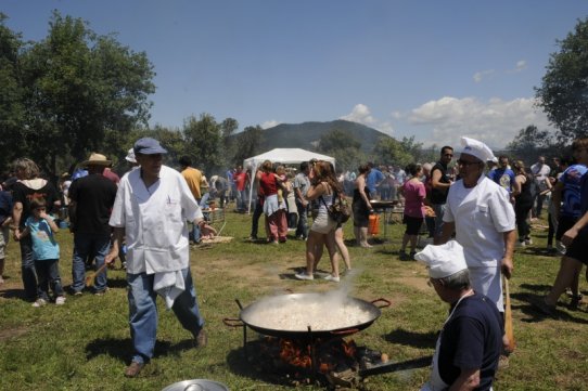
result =
[[[196,336],[204,327],[190,268],[182,270],[186,290],[176,298],[171,310],[183,328]],[[157,294],[153,274],[127,274],[130,337],[135,348],[132,361],[145,363],[153,357],[157,337]]]

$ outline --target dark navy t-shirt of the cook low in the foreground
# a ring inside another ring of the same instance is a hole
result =
[[[438,362],[443,381],[453,383],[461,368],[480,368],[476,390],[488,390],[501,349],[502,318],[496,304],[478,294],[463,299],[443,329]]]

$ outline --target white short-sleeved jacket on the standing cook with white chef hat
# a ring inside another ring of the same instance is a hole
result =
[[[456,223],[468,268],[498,265],[504,256],[503,233],[515,227],[509,193],[486,175],[472,188],[461,180],[449,187],[443,221]]]

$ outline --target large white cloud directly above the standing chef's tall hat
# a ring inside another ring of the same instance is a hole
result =
[[[468,135],[493,147],[503,147],[529,125],[552,129],[545,113],[534,104],[531,97],[512,101],[495,97],[483,102],[475,97],[444,96],[412,109],[408,121],[432,129],[424,138],[426,145],[459,145],[459,138]]]

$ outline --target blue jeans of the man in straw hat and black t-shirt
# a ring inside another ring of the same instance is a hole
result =
[[[104,264],[104,257],[111,249],[110,234],[74,234],[74,259],[72,261],[72,289],[81,291],[86,286],[86,260],[95,259],[95,269]],[[106,289],[106,271],[95,276],[94,290]]]

